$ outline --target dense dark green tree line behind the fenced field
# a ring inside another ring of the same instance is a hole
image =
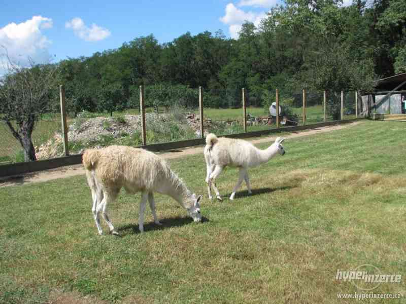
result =
[[[147,102],[155,104],[172,102],[163,90],[202,86],[213,96],[207,106],[222,107],[242,87],[260,105],[263,92],[276,88],[286,94],[301,89],[366,92],[377,78],[406,71],[404,1],[339,4],[286,0],[258,27],[243,24],[238,40],[221,30],[187,32],[163,44],[152,34],[138,37],[114,50],[59,62],[59,81],[79,109],[133,106],[140,85],[151,86],[155,94]]]

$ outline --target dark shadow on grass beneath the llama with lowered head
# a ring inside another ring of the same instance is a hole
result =
[[[191,217],[169,217],[163,218],[159,220],[162,225],[157,225],[154,222],[144,223],[144,232],[154,231],[154,230],[164,230],[171,227],[181,227],[184,225],[188,225],[193,223],[193,219]],[[208,222],[209,219],[207,217],[201,218],[201,223]],[[196,224],[201,224],[196,223]],[[129,234],[138,234],[140,231],[138,230],[138,223],[136,224],[127,224],[121,227],[117,227],[117,232],[120,236],[126,236]]]

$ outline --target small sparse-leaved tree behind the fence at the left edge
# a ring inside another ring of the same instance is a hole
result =
[[[37,160],[31,135],[35,123],[51,106],[50,89],[55,67],[20,67],[8,59],[7,73],[0,79],[0,120],[9,127],[24,150],[25,161]]]

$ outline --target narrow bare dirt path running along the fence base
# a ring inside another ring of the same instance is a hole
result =
[[[325,132],[330,132],[330,131],[334,131],[334,130],[341,130],[341,129],[349,128],[349,127],[358,125],[360,123],[361,122],[354,122],[354,123],[348,123],[348,124],[344,124],[344,125],[326,126],[326,127],[315,128],[315,129],[309,129],[306,131],[292,132],[291,134],[285,135],[284,137],[285,138],[295,138],[295,137],[308,136],[308,135],[313,135],[313,134],[318,134],[318,133],[325,133]],[[257,139],[248,139],[248,141],[252,142],[253,144],[258,144],[258,143],[263,143],[263,142],[272,142],[275,140],[276,137],[277,136],[273,135],[273,136],[267,136],[267,137],[260,137]],[[184,157],[187,155],[202,154],[203,149],[204,149],[204,146],[184,148],[182,150],[168,151],[168,152],[160,154],[160,156],[163,157],[164,159],[174,159],[174,158]],[[82,164],[78,164],[78,165],[60,167],[60,168],[45,170],[45,171],[40,171],[40,172],[27,173],[22,176],[2,178],[2,179],[0,179],[0,187],[29,184],[29,183],[33,183],[33,182],[42,182],[42,181],[48,181],[48,180],[52,180],[52,179],[56,179],[56,178],[66,178],[66,177],[71,177],[71,176],[76,176],[76,175],[81,175],[81,174],[85,174],[85,170],[83,169]]]

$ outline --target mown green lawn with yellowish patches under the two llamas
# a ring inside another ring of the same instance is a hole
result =
[[[147,208],[140,234],[140,196],[121,193],[109,212],[121,238],[96,234],[84,176],[0,188],[0,303],[354,302],[337,293],[362,290],[335,275],[362,264],[403,276],[373,292],[406,296],[404,130],[363,121],[289,139],[234,201],[236,169],[218,179],[224,201],[209,201],[203,156],[171,160],[204,194],[205,221],[158,195],[163,226]]]

